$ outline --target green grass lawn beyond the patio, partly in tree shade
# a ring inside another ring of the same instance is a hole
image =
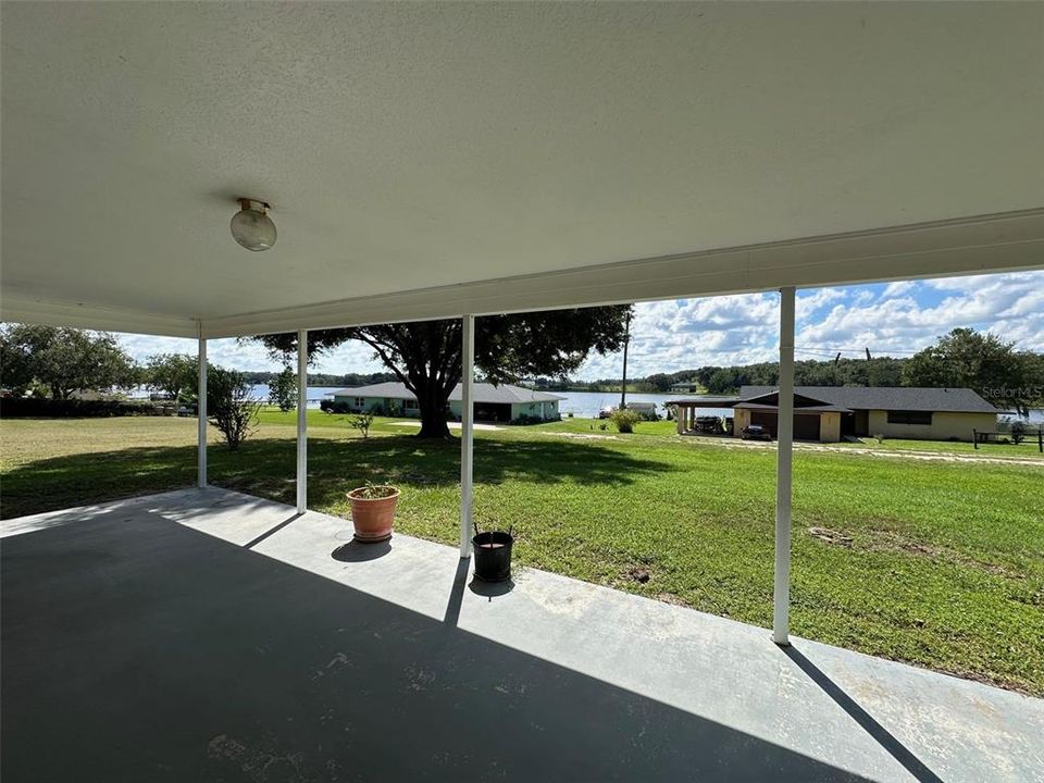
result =
[[[211,481],[294,502],[294,421],[266,410],[235,452],[212,435]],[[309,427],[311,508],[346,517],[348,489],[393,482],[397,530],[456,544],[456,442],[388,420],[362,439],[319,411]],[[672,432],[477,432],[477,522],[514,525],[519,563],[768,627],[774,451]],[[195,433],[191,419],[5,420],[0,514],[190,485]],[[798,450],[794,470],[795,634],[1044,695],[1044,467]]]

